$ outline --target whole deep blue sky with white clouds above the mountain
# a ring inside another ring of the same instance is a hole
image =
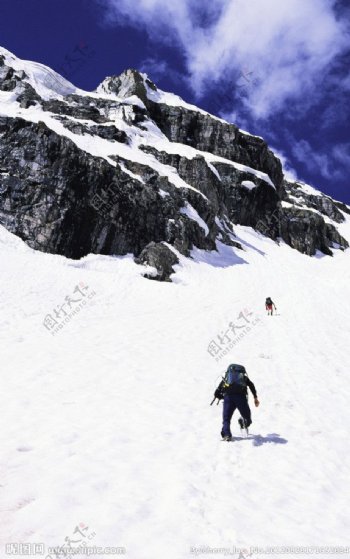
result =
[[[87,90],[146,71],[350,203],[348,0],[0,0],[0,45]]]

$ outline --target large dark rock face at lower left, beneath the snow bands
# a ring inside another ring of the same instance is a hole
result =
[[[41,122],[0,117],[0,136],[1,221],[31,247],[70,258],[138,255],[151,241],[185,255],[193,244],[215,249],[214,215],[208,235],[181,213],[184,193],[155,173],[144,185]]]

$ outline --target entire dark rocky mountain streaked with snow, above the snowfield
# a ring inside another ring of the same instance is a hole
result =
[[[133,253],[166,280],[234,225],[313,255],[348,243],[347,206],[284,180],[263,139],[127,70],[95,92],[0,50],[0,222],[71,258]]]

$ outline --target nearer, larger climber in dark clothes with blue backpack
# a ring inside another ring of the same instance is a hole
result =
[[[238,420],[241,429],[248,429],[249,425],[252,423],[251,411],[248,404],[248,388],[253,394],[255,406],[258,407],[260,402],[257,397],[255,386],[248,378],[243,365],[229,365],[225,376],[215,390],[213,400],[213,402],[215,399],[219,401],[224,400],[223,424],[221,430],[223,441],[230,441],[232,439],[230,424],[236,408],[238,408],[242,416]]]

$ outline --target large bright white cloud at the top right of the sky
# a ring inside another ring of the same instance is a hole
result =
[[[99,0],[108,18],[176,42],[198,98],[223,80],[254,76],[241,102],[266,118],[290,101],[311,104],[332,64],[349,45],[336,0]],[[199,7],[198,7],[199,6]]]

